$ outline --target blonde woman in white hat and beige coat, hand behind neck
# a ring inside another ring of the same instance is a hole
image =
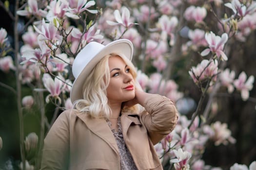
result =
[[[74,109],[47,134],[41,170],[162,170],[154,145],[174,129],[177,110],[166,97],[140,90],[132,53],[126,39],[90,42],[79,52]]]

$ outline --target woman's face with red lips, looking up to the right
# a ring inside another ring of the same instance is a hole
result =
[[[121,57],[111,56],[108,60],[110,82],[107,98],[110,104],[126,102],[135,97],[133,76]]]

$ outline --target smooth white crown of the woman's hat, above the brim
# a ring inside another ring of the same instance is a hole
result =
[[[72,73],[75,78],[79,76],[83,68],[101,51],[105,46],[92,41],[88,43],[76,56],[76,59],[73,62]]]

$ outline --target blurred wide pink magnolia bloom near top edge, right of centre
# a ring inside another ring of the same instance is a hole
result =
[[[196,22],[202,22],[206,17],[207,11],[204,7],[190,6],[184,12],[184,17],[188,20],[195,20]]]

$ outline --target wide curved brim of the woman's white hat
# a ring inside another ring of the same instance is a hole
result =
[[[120,57],[126,57],[129,60],[132,60],[133,44],[129,40],[119,39],[107,44],[101,51],[99,51],[95,57],[86,65],[86,67],[83,68],[79,76],[74,81],[70,92],[70,99],[72,103],[83,98],[82,87],[84,80],[89,75],[91,70],[97,65],[97,63],[104,56],[111,53],[116,53]]]

